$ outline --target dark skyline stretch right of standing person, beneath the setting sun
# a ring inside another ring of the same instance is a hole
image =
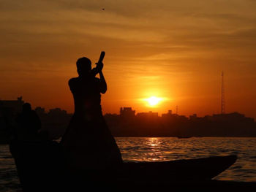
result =
[[[116,137],[256,137],[256,123],[238,112],[206,115],[138,112],[121,107],[120,114],[105,115]]]

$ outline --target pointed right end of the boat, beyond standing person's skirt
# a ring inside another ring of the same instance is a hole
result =
[[[122,177],[146,180],[211,180],[236,162],[236,155],[161,162],[127,162]]]

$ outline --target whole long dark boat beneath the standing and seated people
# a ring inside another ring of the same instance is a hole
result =
[[[92,172],[92,178],[97,178],[97,182],[104,180],[111,183],[136,183],[138,180],[140,183],[211,180],[233,165],[237,159],[236,155],[226,155],[176,161],[124,162],[116,169],[106,169],[100,173],[83,170],[80,172],[82,174],[67,174],[64,155],[57,142],[16,142],[10,145],[10,150],[15,158],[23,189],[30,188],[31,183],[37,186],[59,186],[67,178],[69,181],[72,178],[75,182],[88,180]]]

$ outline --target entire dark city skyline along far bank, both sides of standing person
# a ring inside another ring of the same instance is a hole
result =
[[[17,100],[0,101],[0,142],[8,142],[10,128],[15,116],[22,110],[22,97]],[[61,108],[34,109],[51,138],[60,138],[72,118],[72,114]],[[254,118],[247,118],[238,112],[206,115],[178,115],[168,110],[159,116],[158,112],[138,112],[132,107],[121,107],[119,114],[104,115],[110,131],[115,137],[256,137]]]

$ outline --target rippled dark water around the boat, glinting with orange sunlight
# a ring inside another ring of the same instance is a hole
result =
[[[236,154],[238,161],[215,179],[256,182],[256,138],[119,137],[116,141],[124,161],[168,161]],[[0,145],[0,191],[16,191],[18,183],[9,147]]]

